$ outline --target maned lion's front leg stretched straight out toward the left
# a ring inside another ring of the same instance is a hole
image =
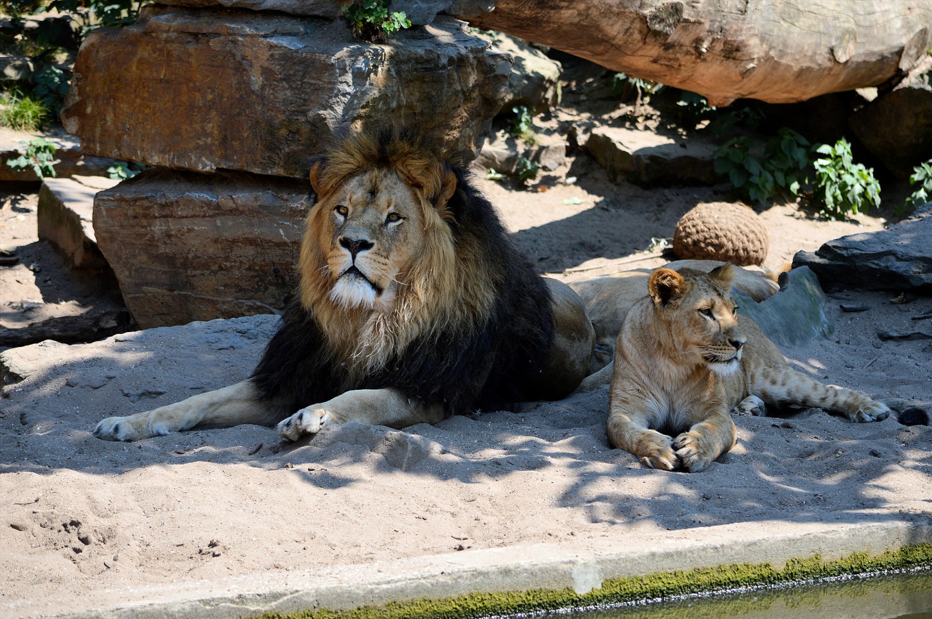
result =
[[[271,425],[280,419],[281,412],[259,401],[253,382],[244,380],[144,413],[105,419],[94,428],[94,436],[109,441],[139,441],[189,430],[200,423],[227,427],[241,423]]]

